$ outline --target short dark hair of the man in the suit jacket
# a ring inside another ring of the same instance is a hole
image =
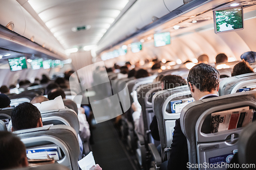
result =
[[[216,90],[220,83],[220,72],[205,63],[195,65],[189,70],[187,82],[195,85],[200,91]],[[190,86],[188,86],[190,88]]]

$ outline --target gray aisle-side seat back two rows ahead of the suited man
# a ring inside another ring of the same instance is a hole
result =
[[[150,133],[147,133],[147,131],[150,130],[150,124],[155,115],[153,112],[152,98],[153,98],[153,95],[160,90],[161,90],[160,82],[143,84],[143,85],[140,85],[139,88],[137,89],[137,98],[141,106],[141,114],[143,117],[144,134],[145,134],[144,137],[146,142],[148,143],[154,142],[154,139],[152,138]]]

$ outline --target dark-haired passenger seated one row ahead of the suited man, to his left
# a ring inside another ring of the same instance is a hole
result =
[[[176,76],[176,75],[167,75],[164,76],[161,79],[161,89],[162,90],[166,90],[169,88],[175,88],[178,86],[184,86],[186,85],[187,82],[180,76]],[[150,124],[150,130],[151,130],[151,135],[152,137],[157,140],[160,141],[160,136],[159,136],[159,130],[158,130],[158,123],[157,123],[157,117],[154,116],[152,119],[152,122]]]

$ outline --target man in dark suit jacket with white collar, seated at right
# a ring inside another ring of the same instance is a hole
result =
[[[200,63],[189,70],[187,82],[191,95],[196,101],[214,98],[218,96],[220,73],[216,68]],[[171,149],[167,169],[188,169],[187,139],[181,131],[180,119],[176,120]],[[161,169],[164,168],[161,166]]]

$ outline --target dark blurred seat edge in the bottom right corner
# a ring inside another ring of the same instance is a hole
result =
[[[239,164],[253,164],[255,168],[256,155],[255,155],[255,142],[256,142],[256,122],[244,128],[238,140],[238,161]],[[251,167],[252,168],[252,167]],[[248,167],[244,167],[248,169]]]

